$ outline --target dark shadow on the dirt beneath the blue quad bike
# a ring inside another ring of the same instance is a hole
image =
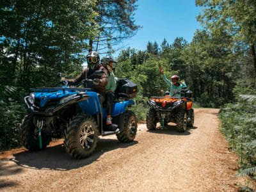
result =
[[[66,171],[93,163],[93,161],[97,161],[102,154],[110,150],[130,147],[137,143],[138,141],[120,143],[118,140],[99,138],[97,147],[92,156],[86,159],[72,159],[65,151],[63,145],[56,145],[39,152],[20,152],[19,154],[13,155],[14,157],[10,159],[10,161],[15,162],[23,168]]]

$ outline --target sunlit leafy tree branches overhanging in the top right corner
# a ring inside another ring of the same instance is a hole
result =
[[[251,62],[256,77],[256,3],[252,0],[196,0],[196,5],[203,8],[197,19],[218,36],[227,31],[232,36],[233,44],[242,45],[242,54],[250,51]],[[246,46],[243,46],[245,44]]]

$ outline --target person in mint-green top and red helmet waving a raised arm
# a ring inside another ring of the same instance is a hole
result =
[[[186,83],[184,83],[184,82],[180,83],[179,82],[180,78],[177,75],[171,77],[171,79],[172,79],[172,82],[171,82],[164,75],[164,70],[162,67],[160,67],[160,71],[161,71],[161,74],[163,75],[164,81],[170,86],[170,94],[169,95],[172,95],[173,97],[180,97],[181,89],[187,88]]]

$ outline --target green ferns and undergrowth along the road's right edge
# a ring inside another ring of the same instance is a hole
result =
[[[255,88],[239,84],[234,92],[255,93]],[[221,131],[225,134],[230,147],[239,155],[241,171],[239,174],[255,173],[256,166],[256,94],[236,95],[236,102],[221,108]]]

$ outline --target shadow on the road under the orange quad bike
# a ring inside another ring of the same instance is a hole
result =
[[[188,127],[185,132],[179,132],[176,125],[165,125],[164,128],[159,126],[156,128],[156,130],[148,132],[154,132],[159,134],[189,135],[191,134],[192,129],[197,129],[197,127]]]

